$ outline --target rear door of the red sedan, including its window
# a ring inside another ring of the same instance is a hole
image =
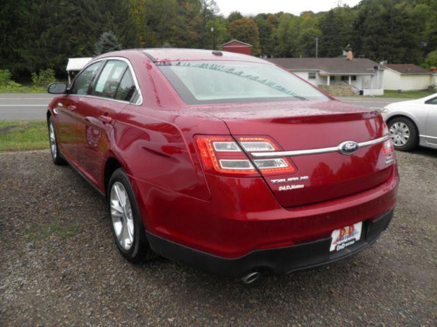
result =
[[[136,92],[125,59],[105,60],[90,96],[77,106],[80,169],[97,187],[103,185],[104,162],[111,148],[115,117]]]

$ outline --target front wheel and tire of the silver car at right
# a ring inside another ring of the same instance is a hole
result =
[[[387,123],[395,150],[411,151],[419,144],[419,133],[413,121],[406,117],[395,117]]]

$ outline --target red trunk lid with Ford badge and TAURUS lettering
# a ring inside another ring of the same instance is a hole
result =
[[[199,109],[199,108],[198,108]],[[269,136],[283,151],[338,147],[384,136],[384,122],[374,110],[336,100],[270,102],[202,107],[222,119],[232,136]],[[264,176],[283,207],[311,204],[375,187],[392,174],[385,164],[384,142],[340,152],[288,157],[296,173]],[[248,153],[250,159],[253,156]]]

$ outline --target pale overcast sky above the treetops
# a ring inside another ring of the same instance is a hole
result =
[[[232,11],[239,11],[243,16],[254,16],[259,13],[277,13],[284,11],[299,15],[302,11],[327,11],[337,6],[338,0],[215,0],[220,13],[225,17]],[[359,0],[343,0],[341,3],[350,7]]]

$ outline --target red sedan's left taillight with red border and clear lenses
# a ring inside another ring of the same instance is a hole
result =
[[[246,153],[277,151],[279,147],[266,137],[198,136],[196,145],[205,170],[237,176],[293,174],[295,167],[286,158],[249,160]],[[256,167],[254,167],[256,166]]]

